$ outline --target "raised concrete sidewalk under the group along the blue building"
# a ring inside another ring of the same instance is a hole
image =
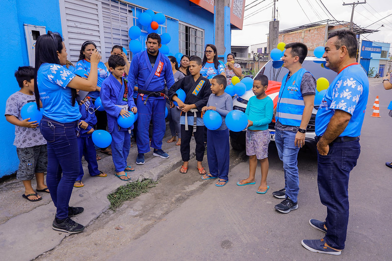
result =
[[[168,129],[168,128],[167,128]],[[133,142],[128,163],[135,168],[131,181],[158,178],[179,168],[182,164],[180,146],[175,142],[167,143],[170,132],[166,132],[162,149],[170,156],[162,159],[153,156],[153,151],[145,154],[145,164],[136,165],[137,147]],[[191,158],[194,157],[195,142],[191,142]],[[193,152],[192,152],[193,151]],[[102,160],[98,161],[99,169],[107,173],[107,177],[91,177],[88,175],[87,164],[83,160],[83,188],[74,188],[70,206],[84,208],[83,215],[73,217],[82,224],[88,225],[109,208],[107,195],[128,181],[121,181],[114,176],[114,165],[111,156],[99,153]],[[87,173],[87,174],[86,174]],[[32,182],[35,189],[35,180]],[[42,200],[29,202],[22,198],[24,186],[19,180],[11,180],[0,184],[0,249],[2,260],[31,260],[51,250],[61,243],[69,234],[52,230],[52,222],[56,209],[49,193],[40,192]],[[21,251],[22,250],[22,251]],[[16,255],[17,253],[17,255]]]

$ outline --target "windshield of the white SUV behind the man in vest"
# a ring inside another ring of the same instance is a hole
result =
[[[282,82],[283,77],[288,72],[287,68],[281,66],[282,64],[282,61],[273,62],[270,60],[264,65],[259,73],[266,75],[271,81]],[[324,64],[325,62],[322,61],[305,60],[302,64],[302,68],[312,73],[316,80],[320,77],[324,77],[327,78],[329,82],[332,82],[337,73],[326,69]],[[280,67],[278,69],[274,68],[274,66],[278,67],[279,65]]]

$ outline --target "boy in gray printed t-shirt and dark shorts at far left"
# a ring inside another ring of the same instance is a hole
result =
[[[48,152],[46,140],[41,135],[37,121],[22,119],[21,109],[28,102],[35,103],[34,68],[30,66],[19,67],[15,72],[16,80],[21,90],[9,96],[5,105],[5,119],[15,125],[16,152],[19,158],[19,169],[16,178],[22,180],[25,193],[22,195],[28,201],[38,201],[39,196],[31,187],[31,180],[37,180],[37,191],[48,192],[44,183],[44,172],[48,166]]]

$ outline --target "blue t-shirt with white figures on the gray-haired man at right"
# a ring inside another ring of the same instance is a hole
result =
[[[340,71],[328,87],[318,108],[315,122],[316,135],[322,136],[335,110],[341,110],[351,114],[351,119],[339,136],[360,136],[368,95],[369,81],[361,65],[354,63]]]

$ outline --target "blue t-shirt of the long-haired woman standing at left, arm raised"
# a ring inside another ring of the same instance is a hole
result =
[[[62,123],[80,119],[78,102],[72,106],[71,88],[67,87],[75,76],[58,64],[44,63],[40,66],[37,85],[44,116]]]

